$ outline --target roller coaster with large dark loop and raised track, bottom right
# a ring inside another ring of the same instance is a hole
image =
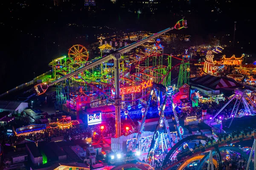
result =
[[[189,160],[195,159],[197,156],[204,154],[205,156],[201,159],[200,164],[198,165],[198,170],[201,170],[202,166],[207,162],[209,157],[212,157],[212,155],[216,155],[216,169],[222,170],[222,158],[220,151],[222,150],[233,150],[241,154],[248,162],[251,160],[251,155],[253,152],[251,152],[250,157],[247,156],[246,153],[244,153],[243,150],[236,148],[236,147],[227,147],[228,144],[234,144],[241,141],[247,141],[254,139],[256,136],[256,130],[242,130],[241,132],[234,132],[231,133],[228,136],[219,136],[218,139],[208,138],[207,136],[201,136],[201,135],[192,135],[188,136],[184,139],[181,139],[179,142],[177,142],[171,150],[167,153],[162,167],[160,170],[169,170],[172,167],[175,167],[177,164],[186,164]],[[186,143],[193,142],[195,140],[200,140],[201,143],[198,145],[195,145],[195,147],[189,147],[186,145]],[[181,148],[181,150],[180,150]],[[253,143],[253,147],[255,149],[255,141]],[[209,152],[212,151],[212,154]],[[176,153],[178,153],[176,155]],[[176,155],[176,156],[175,156]],[[175,158],[176,157],[176,158]],[[194,160],[195,161],[195,160]],[[210,163],[212,164],[213,159],[210,159]],[[213,166],[213,164],[212,164]],[[254,170],[256,165],[253,164],[247,164],[247,168],[250,170]],[[209,165],[208,165],[209,170]]]

